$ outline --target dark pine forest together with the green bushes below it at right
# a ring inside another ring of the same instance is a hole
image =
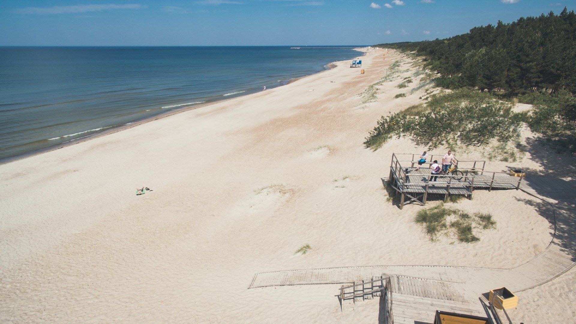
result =
[[[439,74],[439,87],[520,95],[521,103],[536,106],[526,116],[530,129],[543,134],[558,152],[576,153],[574,35],[576,13],[564,7],[560,14],[498,21],[449,39],[378,46],[424,56],[418,61]]]

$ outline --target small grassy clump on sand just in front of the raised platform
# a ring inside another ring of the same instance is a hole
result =
[[[426,234],[433,242],[438,240],[439,236],[444,235],[455,236],[460,242],[472,243],[480,240],[474,234],[474,228],[496,228],[496,221],[492,219],[491,214],[471,215],[459,209],[447,208],[444,204],[419,210],[414,221],[424,227]]]

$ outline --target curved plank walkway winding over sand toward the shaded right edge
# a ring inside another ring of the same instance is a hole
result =
[[[352,266],[257,273],[249,288],[280,285],[341,284],[380,276],[382,273],[424,281],[444,282],[442,290],[462,301],[474,302],[478,296],[495,287],[506,286],[513,292],[545,284],[567,272],[576,264],[576,185],[548,176],[532,176],[521,190],[541,199],[536,208],[554,207],[554,237],[536,257],[515,268],[479,268],[464,266]],[[412,280],[414,281],[414,280]],[[408,282],[408,281],[406,281]],[[432,284],[427,284],[433,287]],[[438,286],[440,287],[440,286]],[[401,291],[395,291],[402,293]],[[435,292],[407,293],[423,298],[436,298]],[[437,298],[445,299],[445,298]],[[480,312],[480,311],[479,311]]]

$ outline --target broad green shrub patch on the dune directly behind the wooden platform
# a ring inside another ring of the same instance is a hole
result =
[[[461,89],[433,95],[427,106],[428,110],[419,116],[382,116],[364,145],[378,149],[392,135],[406,134],[430,149],[447,144],[482,146],[492,140],[514,140],[519,135],[520,114],[512,111],[511,104],[487,93]]]

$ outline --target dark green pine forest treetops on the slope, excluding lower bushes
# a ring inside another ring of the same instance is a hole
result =
[[[473,86],[487,91],[576,92],[576,14],[522,17],[510,24],[472,28],[468,33],[380,47],[416,51],[442,75],[438,86]]]

